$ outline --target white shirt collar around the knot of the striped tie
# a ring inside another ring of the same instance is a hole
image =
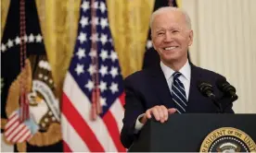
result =
[[[175,72],[172,68],[168,67],[167,65],[164,65],[160,61],[160,68],[165,76],[165,79],[168,80],[173,73]],[[189,81],[191,77],[191,66],[189,65],[188,60],[186,61],[186,64],[179,70],[179,72],[185,76],[185,78]]]

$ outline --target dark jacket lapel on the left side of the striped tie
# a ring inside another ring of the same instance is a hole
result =
[[[154,91],[157,93],[160,103],[165,105],[167,108],[173,108],[173,99],[168,87],[167,81],[163,75],[163,72],[160,68],[160,65],[152,68],[151,74],[151,81],[152,86],[154,87]]]

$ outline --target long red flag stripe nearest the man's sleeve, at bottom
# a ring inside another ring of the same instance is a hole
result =
[[[116,120],[114,119],[111,112],[107,112],[105,116],[103,117],[104,123],[107,125],[109,129],[109,134],[111,135],[115,146],[117,147],[118,152],[124,152],[125,148],[122,147],[121,141],[120,141],[120,133],[118,124],[116,123]]]

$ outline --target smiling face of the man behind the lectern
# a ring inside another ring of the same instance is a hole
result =
[[[187,49],[193,41],[193,31],[187,28],[186,18],[181,12],[158,14],[152,23],[151,36],[153,46],[163,63],[186,63]]]

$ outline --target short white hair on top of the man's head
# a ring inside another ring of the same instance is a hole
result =
[[[164,7],[160,7],[159,9],[157,9],[155,12],[153,12],[153,14],[151,15],[150,18],[150,29],[152,28],[152,23],[153,20],[155,19],[155,17],[163,12],[169,12],[169,11],[179,11],[181,12],[186,19],[186,26],[188,29],[191,29],[191,20],[188,16],[188,14],[186,13],[186,11],[182,8],[178,8],[178,7],[173,7],[173,6],[164,6]]]

